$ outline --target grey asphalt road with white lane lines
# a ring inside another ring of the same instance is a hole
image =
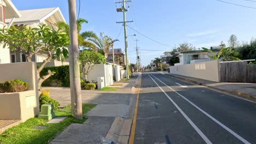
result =
[[[143,73],[134,143],[256,143],[256,104]]]

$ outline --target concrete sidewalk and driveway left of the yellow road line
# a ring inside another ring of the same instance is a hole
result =
[[[83,124],[71,124],[50,143],[103,143],[104,140],[127,143],[130,135],[133,112],[136,103],[135,76],[117,91],[82,91],[83,103],[97,104],[86,113]],[[71,103],[69,88],[49,88],[50,97],[60,101],[61,106]]]

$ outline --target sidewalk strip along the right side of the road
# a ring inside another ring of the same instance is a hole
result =
[[[235,83],[235,82],[213,82],[195,77],[183,76],[166,73],[166,75],[176,77],[178,79],[195,83],[196,85],[203,85],[218,91],[228,92],[238,95],[239,97],[245,97],[251,100],[256,100],[256,83]]]

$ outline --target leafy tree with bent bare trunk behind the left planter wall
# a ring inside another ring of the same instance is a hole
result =
[[[3,47],[9,46],[10,51],[19,51],[24,53],[28,62],[31,62],[33,55],[40,51],[47,52],[47,58],[37,69],[38,90],[40,91],[42,83],[54,73],[48,70],[48,74],[40,76],[40,71],[45,64],[50,62],[54,57],[68,57],[67,47],[69,38],[65,32],[53,31],[49,27],[43,25],[39,28],[31,28],[26,26],[0,29],[0,42]]]

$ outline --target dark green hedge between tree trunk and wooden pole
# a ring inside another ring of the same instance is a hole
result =
[[[62,87],[69,87],[69,65],[62,65],[59,67],[45,67],[41,72],[40,76],[48,74],[48,70],[51,70],[55,74],[50,76],[46,79],[42,86],[49,87],[49,86],[62,86]]]

